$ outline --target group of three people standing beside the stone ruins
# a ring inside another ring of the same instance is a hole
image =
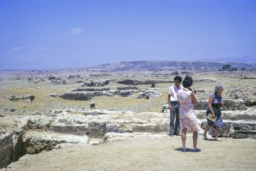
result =
[[[169,88],[168,103],[170,110],[169,136],[181,136],[182,151],[188,152],[186,147],[187,129],[193,131],[193,149],[192,152],[201,152],[197,148],[198,131],[201,130],[201,120],[197,119],[194,106],[197,105],[195,92],[192,91],[193,79],[187,75],[185,79],[180,76],[174,78],[174,85]],[[214,138],[219,140],[219,130],[223,127],[220,107],[224,105],[222,101],[223,87],[215,86],[215,91],[209,96],[208,107],[206,109],[207,126],[202,134],[204,140],[207,140],[207,132],[211,127],[215,129]],[[210,115],[211,114],[211,115]],[[211,116],[211,117],[210,117]],[[180,134],[181,128],[181,134]]]

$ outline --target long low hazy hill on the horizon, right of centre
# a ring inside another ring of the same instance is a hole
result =
[[[208,62],[208,61],[123,61],[116,63],[109,63],[105,65],[98,65],[90,70],[98,71],[168,71],[168,70],[219,70],[222,66],[230,65],[232,68],[240,69],[254,69],[256,63],[232,63],[232,62]]]

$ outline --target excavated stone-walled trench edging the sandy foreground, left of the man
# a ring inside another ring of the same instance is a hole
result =
[[[38,122],[37,122],[38,121]],[[152,133],[166,132],[168,125],[126,125],[113,124],[107,121],[91,121],[87,123],[70,123],[59,120],[27,120],[16,131],[1,131],[0,136],[0,169],[16,162],[26,154],[35,155],[42,151],[60,148],[63,144],[97,145],[104,141],[107,132],[132,133],[151,131]],[[107,124],[108,123],[108,124]]]

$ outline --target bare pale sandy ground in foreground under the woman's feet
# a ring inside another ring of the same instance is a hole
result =
[[[199,136],[201,152],[181,152],[180,148],[180,137],[133,137],[25,155],[3,170],[256,170],[253,139],[204,141]],[[191,134],[187,148],[192,148]]]

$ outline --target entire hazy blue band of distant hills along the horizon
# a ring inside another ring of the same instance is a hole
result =
[[[16,62],[2,63],[1,70],[44,70],[44,69],[67,69],[88,68],[98,71],[169,71],[178,69],[190,70],[219,70],[223,65],[231,65],[237,69],[255,69],[256,56],[244,56],[233,58],[205,58],[197,61],[123,61],[108,63],[105,65],[91,66],[87,61],[46,61],[46,62]]]

